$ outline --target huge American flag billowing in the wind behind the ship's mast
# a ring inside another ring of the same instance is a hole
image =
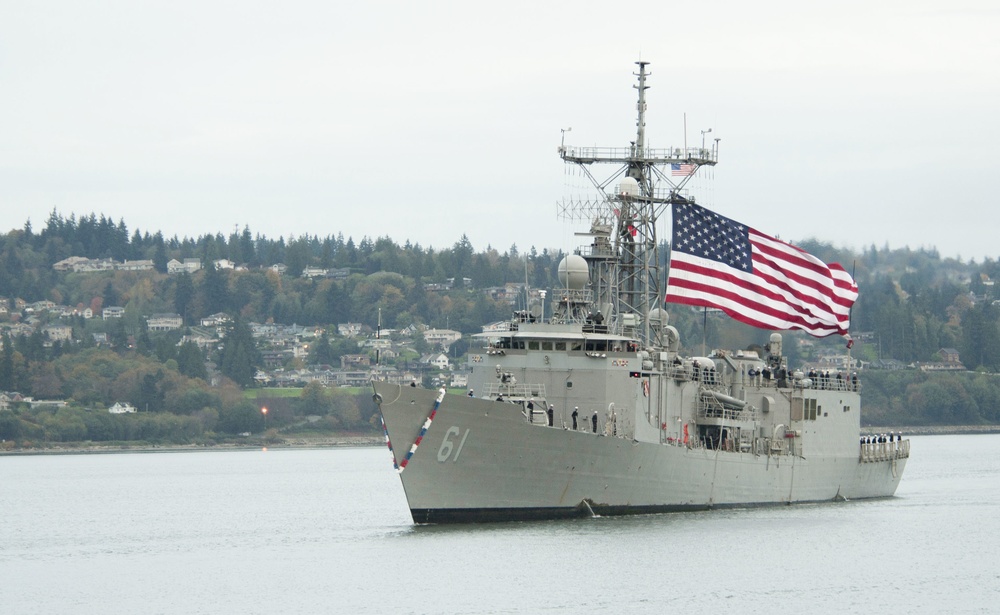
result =
[[[847,335],[858,286],[843,267],[694,203],[675,203],[673,217],[667,301],[762,329]]]

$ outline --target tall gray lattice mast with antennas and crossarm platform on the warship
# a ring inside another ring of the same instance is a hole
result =
[[[650,310],[660,306],[659,242],[657,220],[668,205],[690,200],[681,191],[701,166],[714,166],[718,148],[646,147],[646,71],[649,62],[636,62],[639,100],[636,105],[636,137],[627,148],[573,147],[560,145],[559,155],[567,164],[577,165],[599,192],[595,201],[564,201],[562,217],[589,220],[593,243],[580,250],[591,268],[591,285],[599,309],[609,307],[613,324],[639,335],[647,347],[662,346],[659,327],[651,328]],[[563,133],[565,136],[565,132]],[[716,142],[718,143],[718,142]],[[594,164],[617,167],[607,179],[599,180]],[[681,166],[683,175],[672,174],[671,165]]]

